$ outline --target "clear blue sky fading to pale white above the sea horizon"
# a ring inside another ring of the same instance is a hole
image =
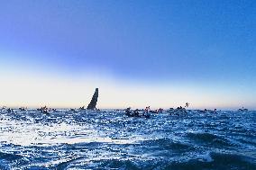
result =
[[[0,77],[0,105],[256,109],[256,1],[1,1]]]

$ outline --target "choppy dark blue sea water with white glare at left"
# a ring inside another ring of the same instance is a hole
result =
[[[256,169],[256,112],[0,112],[0,169]]]

